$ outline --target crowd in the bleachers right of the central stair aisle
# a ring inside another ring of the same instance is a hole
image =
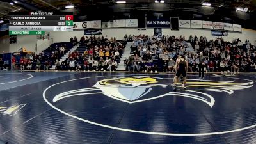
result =
[[[226,42],[222,37],[207,40],[205,36],[175,37],[163,36],[127,36],[125,40],[132,42],[131,56],[124,63],[129,71],[154,72],[157,70],[173,72],[175,60],[183,54],[189,64],[189,72],[197,72],[199,53],[204,55],[204,71],[231,74],[237,72],[256,71],[255,46],[248,40],[241,42],[234,39]]]

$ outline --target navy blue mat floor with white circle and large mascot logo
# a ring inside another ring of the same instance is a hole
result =
[[[256,75],[0,72],[0,140],[42,143],[256,143]]]

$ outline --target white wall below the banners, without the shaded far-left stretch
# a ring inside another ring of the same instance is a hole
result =
[[[110,37],[116,37],[117,40],[123,40],[124,35],[148,35],[151,36],[154,33],[153,28],[147,28],[147,30],[138,31],[137,28],[109,28],[109,29],[103,29],[102,35],[108,35],[108,38]],[[217,36],[211,35],[211,29],[191,29],[191,28],[180,28],[179,31],[172,31],[168,28],[162,29],[163,35],[174,35],[174,36],[180,36],[184,35],[186,39],[189,38],[190,35],[198,36],[198,38],[203,35],[206,36],[207,39],[216,39]],[[84,35],[83,30],[79,31],[51,31],[50,36],[53,38],[53,42],[68,42],[71,38],[71,36],[76,36],[78,39],[81,38],[81,36]],[[254,44],[256,40],[256,31],[251,29],[242,29],[242,33],[232,32],[228,31],[228,36],[223,36],[224,40],[232,42],[234,38],[239,38],[242,41],[245,42],[245,40],[250,40],[252,44]]]

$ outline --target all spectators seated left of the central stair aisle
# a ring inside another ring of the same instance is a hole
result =
[[[47,54],[31,54],[28,57],[20,57],[16,60],[12,56],[12,70],[19,67],[20,70],[45,70],[48,71],[52,65],[55,65],[55,70],[72,70],[72,71],[115,71],[120,58],[124,51],[125,42],[118,42],[116,38],[108,36],[82,36],[77,42],[76,36],[70,38],[72,45],[84,47],[83,52],[69,52],[67,60],[60,61],[60,55],[67,53],[66,45],[56,45],[49,47]]]

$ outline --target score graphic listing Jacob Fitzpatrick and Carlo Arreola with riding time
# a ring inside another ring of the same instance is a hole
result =
[[[72,12],[10,12],[9,35],[44,35],[45,31],[73,31]]]

